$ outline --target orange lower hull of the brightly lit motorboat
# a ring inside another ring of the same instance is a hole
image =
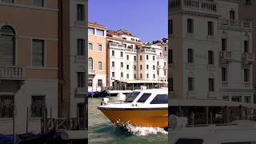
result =
[[[122,122],[133,126],[168,127],[168,109],[163,110],[102,110],[111,122]]]

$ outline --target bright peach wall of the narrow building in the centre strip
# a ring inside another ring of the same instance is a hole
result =
[[[88,35],[88,42],[92,42],[93,50],[88,50],[88,57],[94,59],[94,70],[96,74],[106,74],[106,38]],[[102,44],[102,51],[98,51],[98,44]],[[102,70],[98,70],[98,61],[102,61]]]

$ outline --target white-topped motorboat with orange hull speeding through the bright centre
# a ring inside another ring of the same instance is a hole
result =
[[[134,90],[118,94],[118,102],[102,98],[101,110],[114,124],[168,128],[168,90]]]

